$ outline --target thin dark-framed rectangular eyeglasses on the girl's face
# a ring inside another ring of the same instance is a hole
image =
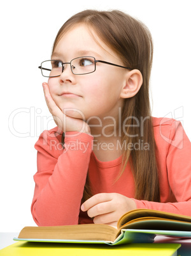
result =
[[[60,76],[65,69],[66,64],[70,64],[71,71],[74,75],[86,75],[93,73],[96,69],[96,63],[101,62],[104,64],[116,66],[119,68],[131,69],[111,62],[103,60],[95,60],[91,56],[83,56],[72,59],[71,62],[62,62],[60,60],[45,60],[41,63],[38,68],[41,69],[41,73],[45,77],[56,77]]]

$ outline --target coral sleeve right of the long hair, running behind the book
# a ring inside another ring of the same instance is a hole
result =
[[[160,134],[160,136],[162,136]],[[166,150],[163,162],[166,168],[161,169],[160,189],[162,193],[171,193],[174,196],[172,202],[150,202],[134,199],[137,208],[146,208],[181,215],[191,216],[191,143],[188,139],[181,122],[174,120],[171,124],[169,136],[162,138],[164,147],[159,150]],[[162,143],[161,143],[162,144]],[[159,152],[160,153],[160,152]],[[160,162],[159,162],[160,165]],[[166,173],[167,172],[167,173]],[[164,186],[163,176],[167,176],[168,185]]]

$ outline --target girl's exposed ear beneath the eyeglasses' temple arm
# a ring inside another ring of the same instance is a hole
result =
[[[122,87],[120,97],[126,99],[135,96],[143,83],[143,76],[138,69],[127,72],[124,86]]]

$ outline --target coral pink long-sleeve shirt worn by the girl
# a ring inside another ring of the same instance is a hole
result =
[[[37,225],[92,223],[80,210],[87,172],[94,194],[115,192],[134,199],[129,164],[114,182],[122,157],[101,162],[92,150],[93,136],[80,132],[66,132],[63,149],[57,131],[44,131],[35,145],[38,171],[31,212]],[[181,122],[173,119],[153,117],[153,131],[161,203],[134,199],[136,206],[191,216],[191,143]]]

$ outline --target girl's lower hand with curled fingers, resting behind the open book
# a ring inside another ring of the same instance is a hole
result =
[[[87,211],[95,224],[108,224],[117,226],[118,219],[136,209],[136,203],[129,197],[117,193],[101,193],[90,197],[81,204],[81,210]]]

